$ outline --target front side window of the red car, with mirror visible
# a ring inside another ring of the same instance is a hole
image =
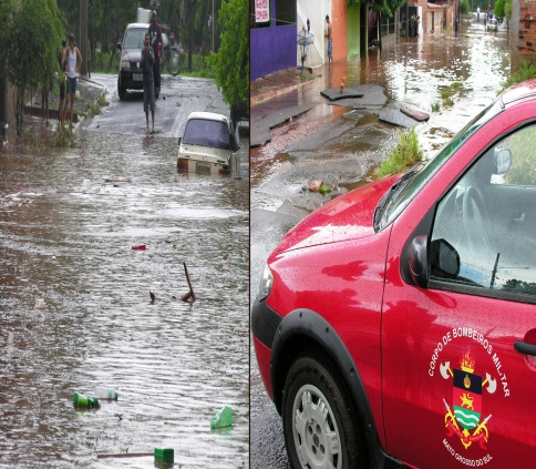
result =
[[[536,125],[488,149],[437,205],[431,281],[536,296]]]

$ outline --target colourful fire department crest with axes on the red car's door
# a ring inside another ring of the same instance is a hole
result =
[[[444,379],[453,380],[452,409],[443,399],[446,407],[445,427],[447,437],[456,436],[467,449],[471,445],[478,442],[482,449],[489,438],[487,422],[492,418],[489,414],[482,419],[482,395],[483,389],[493,394],[497,388],[497,381],[486,373],[486,378],[476,375],[475,360],[471,356],[471,349],[462,356],[460,368],[451,369],[451,363],[441,364],[441,376]]]

